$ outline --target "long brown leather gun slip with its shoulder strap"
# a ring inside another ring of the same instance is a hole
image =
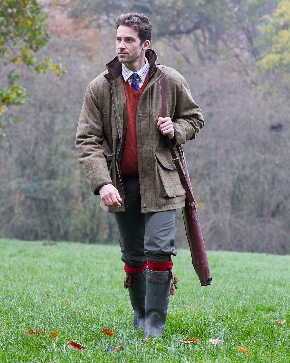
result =
[[[158,68],[162,70],[162,65],[158,64]],[[165,101],[165,86],[164,86],[164,76],[159,79],[161,87],[161,105],[162,105],[162,117],[167,117],[166,101]],[[202,286],[211,285],[212,277],[210,275],[210,267],[208,265],[206,249],[204,247],[204,241],[202,236],[202,230],[200,228],[198,214],[196,211],[195,200],[192,192],[192,187],[190,183],[190,178],[188,175],[187,165],[185,161],[185,155],[182,150],[181,145],[177,145],[179,151],[181,151],[183,161],[184,161],[184,172],[180,166],[179,158],[175,154],[174,148],[168,135],[165,136],[167,147],[170,150],[172,161],[174,162],[179,178],[185,189],[185,207],[182,207],[183,221],[185,225],[186,237],[188,240],[191,260],[194,270],[199,278],[200,284]]]

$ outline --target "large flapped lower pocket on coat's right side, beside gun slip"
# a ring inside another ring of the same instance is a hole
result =
[[[185,195],[185,189],[180,181],[178,171],[172,161],[170,151],[155,152],[157,171],[165,190],[165,197]]]

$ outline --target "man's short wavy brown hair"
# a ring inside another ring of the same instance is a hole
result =
[[[120,25],[134,26],[134,29],[138,31],[140,46],[145,40],[149,40],[151,43],[152,25],[146,15],[139,13],[121,14],[116,19],[116,29],[118,29]]]

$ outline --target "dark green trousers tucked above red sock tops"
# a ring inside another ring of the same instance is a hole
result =
[[[176,256],[174,247],[176,209],[141,213],[139,177],[122,176],[128,208],[115,212],[119,229],[122,261],[139,267],[148,259],[169,261]]]

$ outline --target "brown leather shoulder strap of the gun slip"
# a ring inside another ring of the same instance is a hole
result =
[[[162,70],[163,72],[163,69],[162,69],[162,65],[158,64],[158,68]],[[161,109],[162,109],[162,117],[167,117],[167,107],[166,107],[166,98],[165,98],[165,85],[164,85],[164,76],[160,77],[159,79],[159,82],[160,82],[160,88],[161,88]],[[181,180],[181,183],[183,185],[183,188],[185,189],[185,192],[186,192],[186,196],[188,198],[188,200],[190,202],[194,202],[194,196],[191,192],[191,188],[188,186],[188,183],[187,183],[187,179],[186,179],[186,176],[182,170],[182,167],[180,165],[180,160],[179,158],[177,157],[176,153],[175,153],[175,150],[171,144],[171,141],[168,137],[168,135],[164,135],[165,136],[165,141],[166,141],[166,145],[167,147],[169,148],[170,150],[170,153],[171,153],[171,156],[172,156],[172,161],[174,162],[175,166],[176,166],[176,169],[178,171],[178,175],[179,175],[179,178]],[[182,154],[183,154],[183,151],[182,151]]]

